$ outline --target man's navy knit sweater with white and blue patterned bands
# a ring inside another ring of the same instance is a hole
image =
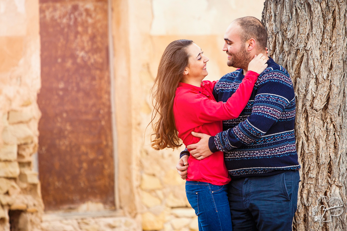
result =
[[[209,147],[225,154],[233,178],[270,176],[300,168],[295,146],[295,95],[286,69],[269,59],[255,83],[247,106],[237,119],[223,121],[223,132],[210,137]],[[217,101],[226,102],[243,70],[224,75],[215,85]]]

